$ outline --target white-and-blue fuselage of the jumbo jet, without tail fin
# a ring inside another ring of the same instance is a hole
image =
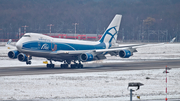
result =
[[[37,33],[26,33],[17,43],[18,51],[37,57],[45,58],[69,58],[67,55],[57,56],[53,53],[57,51],[78,51],[106,49],[109,44],[99,41],[84,41],[73,39],[52,38]]]

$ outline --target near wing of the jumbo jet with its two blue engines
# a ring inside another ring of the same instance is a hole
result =
[[[141,44],[141,45],[125,45],[119,46],[116,48],[110,49],[96,49],[96,50],[72,50],[72,51],[54,51],[52,54],[57,54],[61,56],[72,56],[79,57],[82,61],[89,60],[101,60],[106,59],[106,54],[110,54],[111,56],[120,56],[121,58],[129,58],[133,55],[134,52],[137,52],[136,48],[142,47],[150,47],[150,46],[158,46],[161,44]]]

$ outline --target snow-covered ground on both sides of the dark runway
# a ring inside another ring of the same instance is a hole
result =
[[[109,57],[99,62],[127,62],[136,59],[180,59],[180,44],[138,48],[129,59]],[[0,66],[22,66],[23,62],[9,59],[9,50],[0,47]],[[34,65],[43,65],[45,59],[33,58]],[[59,63],[57,63],[59,64]],[[60,100],[60,101],[124,101],[129,100],[129,82],[144,84],[134,92],[141,100],[165,99],[166,83],[163,69],[129,70],[115,72],[68,73],[0,77],[0,100]],[[180,99],[180,68],[168,73],[168,98]],[[150,79],[146,79],[150,77]]]

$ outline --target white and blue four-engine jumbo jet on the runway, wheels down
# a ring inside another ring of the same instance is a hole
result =
[[[136,52],[132,47],[111,46],[116,42],[122,15],[115,15],[99,41],[52,38],[38,33],[26,33],[16,43],[16,50],[9,51],[12,59],[31,64],[32,57],[50,61],[47,68],[54,68],[52,61],[63,62],[61,68],[83,68],[82,62],[106,59],[106,54],[129,58]]]

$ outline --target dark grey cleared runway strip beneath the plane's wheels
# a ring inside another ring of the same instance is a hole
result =
[[[93,65],[93,66],[92,66]],[[110,63],[89,63],[85,64],[83,69],[61,69],[56,66],[54,69],[47,69],[42,66],[18,66],[18,67],[1,67],[0,76],[16,75],[39,75],[39,74],[63,74],[63,73],[85,73],[85,72],[106,72],[106,71],[123,71],[123,70],[147,70],[163,69],[166,67],[179,68],[180,59],[170,60],[149,60],[135,62],[110,62]]]

